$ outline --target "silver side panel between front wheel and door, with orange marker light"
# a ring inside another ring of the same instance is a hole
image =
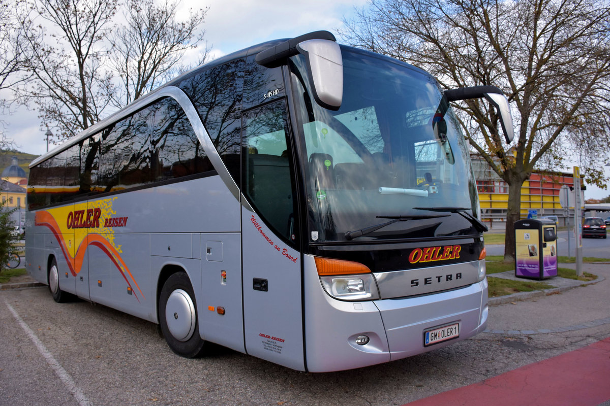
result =
[[[239,233],[201,234],[202,294],[197,299],[202,309],[199,312],[201,337],[245,352],[241,251]]]

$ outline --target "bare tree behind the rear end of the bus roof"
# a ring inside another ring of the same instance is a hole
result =
[[[33,77],[21,88],[22,101],[37,105],[59,139],[99,121],[112,100],[102,41],[116,10],[117,0],[36,0],[23,18]]]

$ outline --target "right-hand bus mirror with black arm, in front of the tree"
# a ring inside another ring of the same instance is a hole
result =
[[[509,107],[508,99],[506,99],[504,93],[496,86],[472,86],[445,90],[443,97],[447,97],[448,102],[485,97],[485,99],[492,103],[493,107],[495,107],[498,112],[506,142],[510,144],[515,137],[514,124],[512,122],[511,108]]]

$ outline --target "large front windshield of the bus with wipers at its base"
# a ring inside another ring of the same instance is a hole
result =
[[[290,64],[310,242],[478,234],[468,149],[436,80],[350,47],[342,55],[338,111],[313,100],[302,55]]]

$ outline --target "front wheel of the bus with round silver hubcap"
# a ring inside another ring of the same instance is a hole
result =
[[[203,354],[205,341],[199,337],[195,293],[186,273],[174,273],[163,285],[159,296],[159,324],[171,351],[185,358]]]

